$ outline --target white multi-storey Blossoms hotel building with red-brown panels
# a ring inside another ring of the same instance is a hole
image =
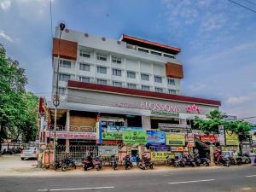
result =
[[[59,34],[57,27],[52,95],[60,55],[59,131],[93,135],[99,116],[103,128],[121,125],[150,130],[159,129],[160,124],[190,125],[195,115],[205,118],[221,105],[214,100],[182,96],[183,65],[177,60],[181,49],[128,35],[116,40],[66,29],[60,40]],[[52,102],[48,107],[53,122]],[[65,140],[66,144],[95,142],[93,137],[63,137],[62,143]]]

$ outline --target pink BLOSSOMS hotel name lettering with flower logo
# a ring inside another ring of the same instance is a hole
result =
[[[172,105],[170,103],[159,103],[159,102],[139,102],[139,103],[131,103],[131,102],[113,102],[113,107],[117,108],[138,108],[138,109],[146,109],[150,110],[153,113],[159,114],[177,114],[177,113],[201,113],[201,108],[192,105]]]

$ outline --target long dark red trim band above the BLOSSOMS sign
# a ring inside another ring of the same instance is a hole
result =
[[[133,90],[133,89],[123,88],[123,87],[115,87],[115,86],[102,85],[102,84],[90,84],[90,83],[84,83],[79,81],[69,80],[67,83],[67,86],[70,88],[79,88],[79,89],[85,89],[85,90],[101,90],[101,91],[112,92],[112,93],[123,94],[123,95],[153,97],[157,99],[166,99],[166,100],[172,100],[177,102],[193,102],[193,103],[201,103],[206,105],[221,106],[221,102],[216,100],[201,99],[201,98],[195,98],[190,96],[178,96],[178,95],[171,95],[166,93],[157,93],[157,92],[147,91],[147,90]]]

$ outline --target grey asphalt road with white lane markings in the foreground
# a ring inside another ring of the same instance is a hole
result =
[[[83,171],[81,171],[83,172]],[[90,172],[90,171],[89,171]],[[189,168],[166,172],[83,172],[68,176],[0,177],[1,192],[216,192],[256,191],[256,167]]]

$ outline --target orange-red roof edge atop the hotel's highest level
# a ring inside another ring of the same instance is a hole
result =
[[[172,46],[169,46],[169,45],[166,45],[166,44],[159,44],[159,43],[156,43],[156,42],[153,42],[153,41],[148,41],[148,40],[143,39],[143,38],[135,38],[135,37],[131,37],[129,35],[123,34],[123,36],[121,37],[121,40],[125,41],[127,39],[137,41],[139,43],[154,45],[154,46],[160,47],[160,48],[170,49],[172,51],[177,52],[177,54],[181,51],[181,49],[179,49],[179,48],[172,47]]]

